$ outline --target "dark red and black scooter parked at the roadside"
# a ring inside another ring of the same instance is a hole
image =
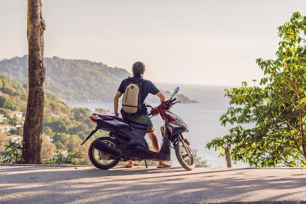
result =
[[[153,108],[149,116],[160,115],[164,124],[160,130],[163,136],[159,152],[153,152],[144,138],[148,127],[146,125],[124,120],[123,118],[111,115],[93,113],[89,116],[92,122],[97,126],[92,130],[83,145],[98,130],[109,132],[108,136],[95,139],[89,146],[88,157],[90,162],[99,169],[110,169],[116,166],[119,161],[170,161],[171,149],[175,149],[175,155],[178,162],[186,170],[192,170],[196,166],[195,156],[190,149],[189,141],[182,134],[188,132],[185,122],[170,112],[170,108],[180,101],[175,102],[176,98],[172,97],[179,91],[177,87],[171,99],[160,103]]]

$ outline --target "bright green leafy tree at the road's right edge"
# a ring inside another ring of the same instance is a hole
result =
[[[262,88],[242,82],[240,88],[226,89],[230,107],[220,121],[232,128],[206,147],[230,147],[234,161],[250,166],[305,167],[306,17],[293,13],[278,30],[282,38],[278,58],[256,60],[265,74]]]

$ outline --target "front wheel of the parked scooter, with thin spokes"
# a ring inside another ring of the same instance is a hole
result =
[[[196,167],[194,153],[184,141],[175,144],[175,155],[180,165],[190,171]]]

